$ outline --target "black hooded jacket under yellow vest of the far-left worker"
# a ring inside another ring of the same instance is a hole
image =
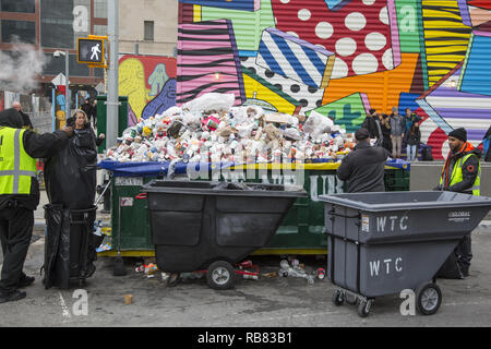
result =
[[[0,128],[22,129],[23,124],[22,116],[16,109],[10,108],[0,112]],[[44,134],[25,130],[22,141],[25,152],[32,158],[44,158],[51,156],[58,147],[63,146],[68,137],[68,134],[61,130]],[[31,194],[28,195],[0,193],[0,209],[7,207],[9,202],[15,201],[17,207],[35,210],[39,204],[39,183],[35,177],[31,181]]]

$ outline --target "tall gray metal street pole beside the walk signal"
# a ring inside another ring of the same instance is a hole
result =
[[[116,145],[118,137],[118,28],[119,28],[119,0],[108,1],[107,32],[110,45],[110,59],[108,72],[108,89],[107,89],[107,133],[106,148]]]

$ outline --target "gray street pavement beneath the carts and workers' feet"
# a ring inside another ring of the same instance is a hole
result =
[[[46,197],[44,198],[46,200]],[[44,220],[41,209],[36,221]],[[26,289],[27,298],[0,304],[2,326],[197,326],[197,327],[324,327],[324,326],[490,326],[491,325],[491,224],[483,221],[472,232],[471,276],[464,280],[439,280],[443,302],[432,316],[403,316],[398,296],[375,300],[370,316],[361,318],[352,305],[335,306],[334,287],[327,280],[308,285],[301,278],[238,279],[236,288],[215,291],[206,280],[183,280],[168,287],[159,277],[146,278],[134,272],[136,260],[128,258],[128,275],[112,276],[110,257],[96,262],[97,272],[83,289],[87,292],[87,314],[70,290],[41,284],[44,230],[35,231],[25,272],[36,276]],[[307,268],[325,267],[325,260],[298,256]],[[278,269],[279,256],[252,256],[262,273]],[[0,252],[0,264],[2,261]],[[124,294],[133,303],[124,304]],[[76,297],[76,294],[75,294]]]

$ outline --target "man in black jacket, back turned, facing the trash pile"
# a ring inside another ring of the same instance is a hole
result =
[[[384,192],[384,169],[388,152],[370,146],[370,134],[366,129],[355,133],[357,146],[337,169],[337,177],[348,182],[348,193]]]

